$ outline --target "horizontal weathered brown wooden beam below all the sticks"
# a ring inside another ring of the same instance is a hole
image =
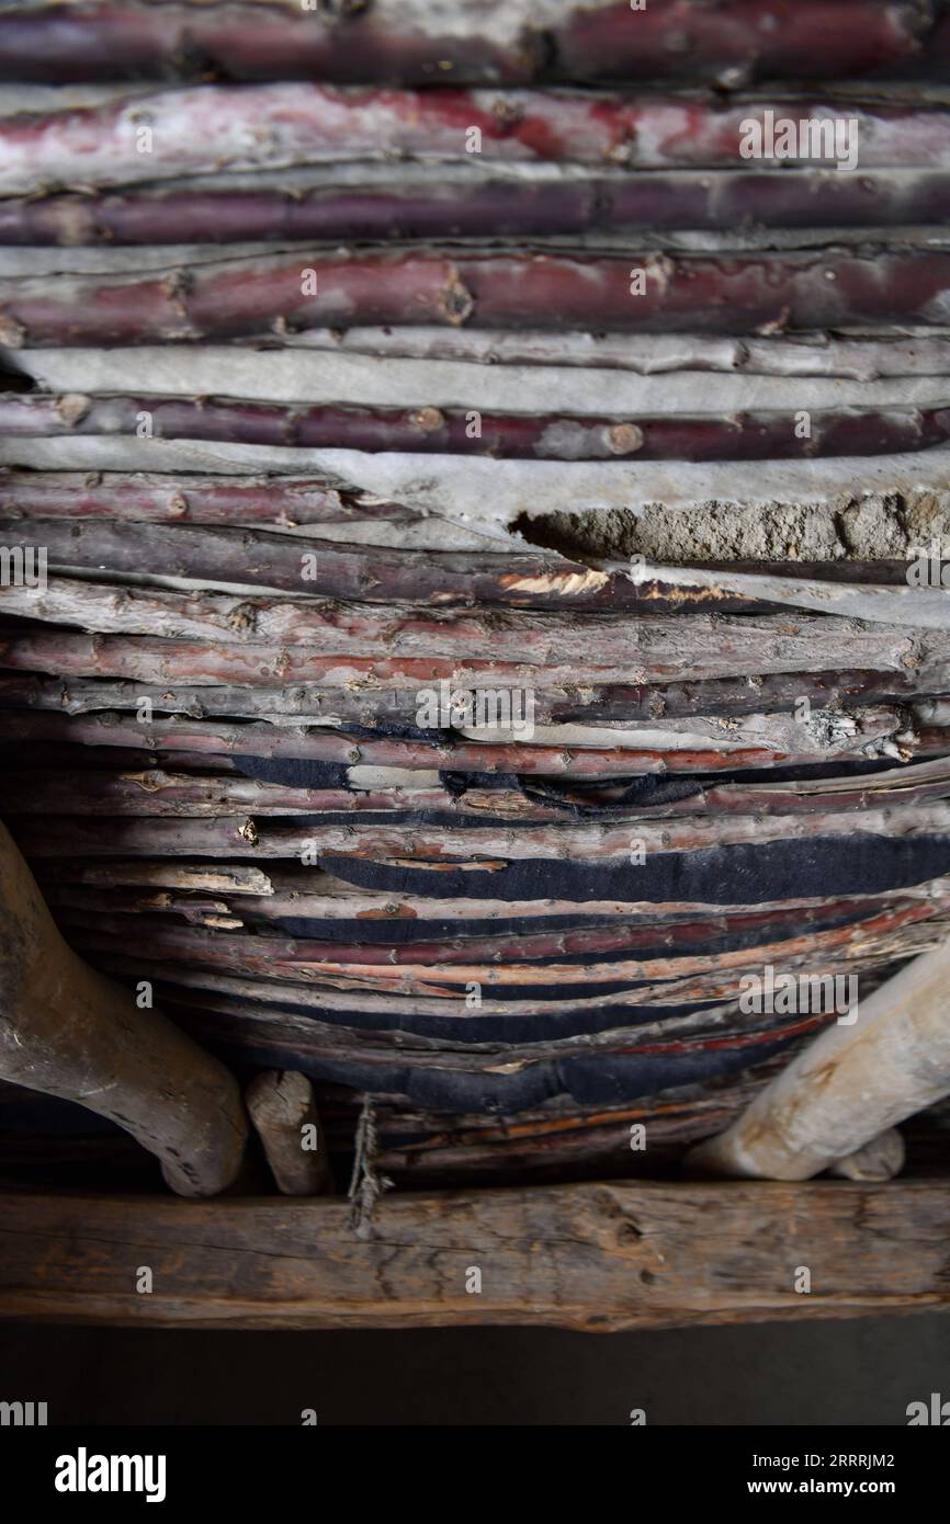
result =
[[[923,1312],[950,1308],[948,1239],[944,1180],[393,1192],[366,1239],[346,1201],[14,1192],[0,1317],[608,1330]]]

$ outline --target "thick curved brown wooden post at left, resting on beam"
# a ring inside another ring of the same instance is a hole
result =
[[[241,1166],[247,1119],[233,1076],[66,945],[3,826],[0,1077],[117,1122],[178,1195],[215,1195]]]

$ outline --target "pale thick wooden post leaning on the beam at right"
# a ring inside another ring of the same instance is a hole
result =
[[[686,1164],[708,1175],[807,1180],[947,1094],[950,942],[881,985],[852,1024],[826,1027]]]

